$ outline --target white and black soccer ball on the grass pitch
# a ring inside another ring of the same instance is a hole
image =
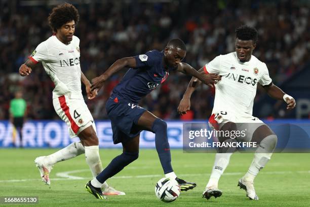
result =
[[[180,185],[174,179],[162,178],[155,186],[155,194],[164,202],[172,202],[180,195]]]

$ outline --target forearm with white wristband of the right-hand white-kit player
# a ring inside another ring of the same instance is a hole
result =
[[[269,84],[268,86],[263,86],[263,88],[270,97],[279,100],[283,99],[287,103],[286,109],[291,110],[295,108],[296,106],[295,99],[292,96],[285,94],[279,87],[277,87],[273,83]]]

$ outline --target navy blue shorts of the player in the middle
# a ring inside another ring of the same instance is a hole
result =
[[[105,105],[106,112],[111,120],[113,143],[126,143],[140,134],[137,123],[146,111],[129,100],[118,97],[109,97]]]

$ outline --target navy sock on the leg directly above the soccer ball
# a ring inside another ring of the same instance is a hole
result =
[[[156,119],[152,126],[155,133],[155,145],[164,173],[172,172],[170,146],[167,136],[167,123],[162,119]]]

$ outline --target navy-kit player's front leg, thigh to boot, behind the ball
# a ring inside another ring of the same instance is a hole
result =
[[[137,125],[140,129],[155,133],[155,146],[160,158],[165,177],[175,179],[182,191],[187,191],[196,187],[196,183],[186,182],[177,178],[171,166],[171,153],[168,142],[167,123],[145,111],[139,118]]]

